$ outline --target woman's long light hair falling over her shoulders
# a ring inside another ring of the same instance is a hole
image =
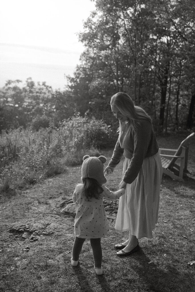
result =
[[[134,105],[133,100],[127,93],[118,92],[111,97],[111,105],[118,108],[118,110],[128,118],[130,125],[137,129],[141,125],[141,121],[147,120],[152,123],[151,117],[139,106]],[[118,132],[121,133],[125,127],[125,122],[119,121]]]

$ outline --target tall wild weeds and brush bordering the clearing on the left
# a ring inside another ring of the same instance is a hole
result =
[[[39,124],[38,124],[39,126]],[[77,165],[86,154],[113,147],[116,134],[103,121],[78,114],[59,128],[18,128],[0,135],[0,191],[12,193]],[[39,128],[39,129],[38,129]]]

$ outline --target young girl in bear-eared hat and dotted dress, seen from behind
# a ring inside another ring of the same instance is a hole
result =
[[[82,245],[86,239],[90,239],[94,256],[94,269],[97,275],[103,273],[101,237],[104,237],[109,230],[103,197],[118,199],[125,194],[124,188],[111,192],[103,186],[107,182],[103,174],[103,164],[105,162],[106,157],[104,156],[89,157],[89,155],[85,155],[81,170],[82,183],[76,186],[73,194],[76,216],[71,265],[77,266]]]

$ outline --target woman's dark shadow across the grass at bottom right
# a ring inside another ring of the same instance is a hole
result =
[[[194,292],[195,279],[188,273],[187,268],[181,273],[174,267],[176,263],[173,263],[173,265],[169,264],[166,266],[167,272],[165,272],[165,270],[151,262],[143,250],[140,250],[136,256],[139,266],[136,265],[134,269],[139,275],[140,280],[144,281],[147,291]]]

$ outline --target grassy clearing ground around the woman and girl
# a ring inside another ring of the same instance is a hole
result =
[[[159,146],[177,148],[186,136],[158,137]],[[104,274],[99,277],[93,270],[89,241],[83,245],[78,267],[70,265],[74,211],[67,211],[71,204],[66,202],[80,181],[80,166],[70,166],[65,173],[4,200],[0,205],[0,291],[194,291],[194,140],[190,173],[184,182],[163,176],[158,225],[153,239],[139,241],[141,251],[117,257],[113,246],[126,239],[127,232],[115,230],[115,220],[109,219],[109,234],[102,239]],[[111,151],[102,154],[108,160],[111,157]],[[122,163],[108,177],[110,189],[117,189],[121,172]],[[105,202],[117,209],[116,201]],[[113,212],[107,215],[115,217]]]

